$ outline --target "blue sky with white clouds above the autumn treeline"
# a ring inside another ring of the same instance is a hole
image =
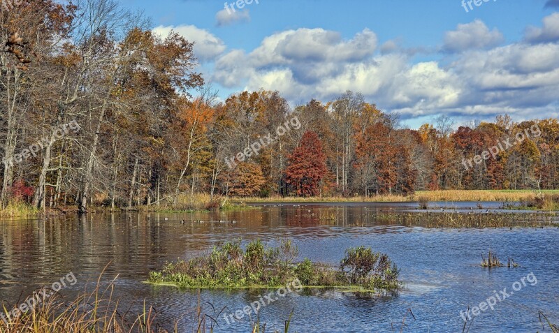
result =
[[[559,117],[559,0],[121,2],[194,42],[222,100],[265,89],[294,107],[351,90],[410,128]]]

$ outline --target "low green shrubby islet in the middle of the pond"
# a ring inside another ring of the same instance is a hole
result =
[[[388,256],[371,249],[348,249],[340,267],[293,262],[298,255],[290,241],[268,248],[259,241],[215,246],[208,256],[168,263],[161,272],[150,273],[150,283],[179,288],[279,288],[297,281],[301,287],[337,287],[351,290],[397,290],[398,268]]]

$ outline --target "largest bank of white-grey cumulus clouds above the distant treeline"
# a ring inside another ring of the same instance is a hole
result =
[[[489,31],[481,21],[451,32],[445,36],[446,48],[423,52],[436,57],[452,50],[453,61],[443,64],[414,61],[414,52],[397,41],[377,47],[369,29],[350,38],[324,29],[280,31],[252,51],[217,57],[212,80],[231,89],[277,90],[291,102],[330,101],[350,89],[402,119],[442,112],[470,120],[504,112],[517,119],[534,112],[556,117],[558,44],[499,46],[500,32]]]

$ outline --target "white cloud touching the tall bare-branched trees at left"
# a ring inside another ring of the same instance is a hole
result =
[[[175,31],[180,36],[186,38],[189,42],[194,42],[194,54],[201,61],[210,61],[215,59],[226,50],[223,40],[217,38],[209,31],[199,29],[194,25],[159,26],[153,29],[155,34],[167,36],[170,31]]]

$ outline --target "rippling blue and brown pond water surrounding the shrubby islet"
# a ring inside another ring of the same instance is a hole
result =
[[[476,205],[453,206],[469,209]],[[261,309],[266,332],[281,330],[292,310],[290,332],[400,332],[404,318],[407,326],[402,332],[462,332],[460,311],[479,306],[495,293],[502,295],[503,288],[507,288],[507,299],[474,316],[470,332],[541,332],[538,311],[559,323],[559,228],[427,229],[370,221],[378,212],[417,206],[409,204],[259,206],[228,213],[0,221],[0,300],[17,304],[33,290],[73,272],[78,283],[61,290],[71,298],[86,283],[96,281],[110,263],[103,284],[118,276],[115,298],[126,309],[131,306],[140,312],[145,299],[159,311],[159,321],[168,329],[179,320],[180,332],[192,332],[198,302],[209,316],[226,306],[217,317],[215,332],[251,332],[249,318],[227,323],[224,314],[242,310],[268,291],[202,290],[198,295],[198,291],[144,281],[165,262],[206,253],[218,242],[261,239],[277,245],[289,238],[298,245],[301,259],[332,265],[339,263],[350,246],[370,246],[387,253],[401,268],[404,288],[398,295],[384,297],[336,290],[288,293]],[[496,208],[484,203],[484,209]],[[321,218],[332,211],[335,219]],[[237,222],[212,222],[219,220]],[[514,258],[521,267],[482,268],[481,254],[489,249],[505,262],[507,257]],[[406,315],[408,309],[414,316]]]

